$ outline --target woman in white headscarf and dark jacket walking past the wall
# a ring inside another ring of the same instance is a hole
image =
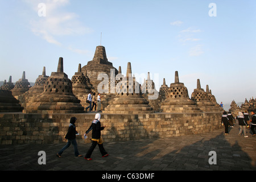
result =
[[[101,126],[100,119],[101,119],[101,114],[97,113],[95,115],[95,119],[92,122],[92,125],[90,125],[89,129],[85,132],[85,135],[87,135],[90,132],[90,130],[92,130],[92,146],[90,146],[88,152],[84,157],[86,160],[92,160],[90,156],[92,155],[92,152],[94,148],[97,146],[97,144],[98,144],[98,148],[100,148],[102,158],[108,156],[108,152],[105,151],[103,147],[103,140],[101,138],[101,130],[104,130],[106,126]]]

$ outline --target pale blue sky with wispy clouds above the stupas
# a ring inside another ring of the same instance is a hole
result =
[[[200,79],[218,104],[244,102],[256,97],[255,22],[255,0],[0,0],[0,81],[50,76],[59,57],[71,79],[102,45],[156,89],[178,71],[190,98]]]

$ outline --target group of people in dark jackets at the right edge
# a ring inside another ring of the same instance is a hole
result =
[[[227,114],[226,111],[223,112],[222,118],[221,118],[221,124],[225,127],[225,135],[229,134],[228,127],[234,127],[234,121],[235,119],[238,120],[238,125],[240,126],[240,130],[238,135],[241,136],[242,132],[244,137],[248,137],[246,128],[250,128],[251,132],[253,133],[253,137],[256,136],[254,128],[256,127],[256,114],[255,111],[251,111],[251,118],[247,111],[244,112],[238,112],[238,115],[236,118],[233,117],[231,112]]]

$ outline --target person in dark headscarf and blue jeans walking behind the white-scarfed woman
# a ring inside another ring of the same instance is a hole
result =
[[[75,117],[72,117],[70,119],[70,124],[69,124],[69,127],[68,127],[68,133],[67,135],[65,136],[65,140],[67,141],[68,140],[68,143],[65,144],[65,146],[63,148],[61,148],[61,150],[59,152],[57,152],[56,156],[61,158],[61,154],[64,152],[64,150],[66,150],[71,144],[74,146],[74,151],[75,151],[75,156],[78,156],[78,157],[81,157],[82,155],[79,155],[79,151],[77,149],[77,143],[76,143],[76,134],[77,131],[76,131],[76,125],[75,125],[75,122],[76,122],[76,119]]]

